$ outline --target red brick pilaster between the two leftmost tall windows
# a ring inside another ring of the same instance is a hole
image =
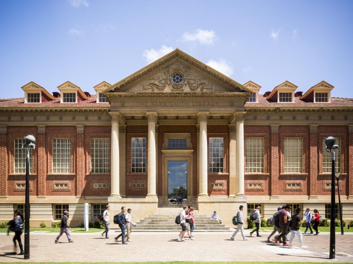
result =
[[[37,198],[46,198],[46,175],[47,175],[47,155],[46,155],[46,135],[45,125],[38,125],[38,136],[36,148],[38,150],[38,193]]]

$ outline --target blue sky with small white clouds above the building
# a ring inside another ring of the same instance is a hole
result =
[[[260,93],[321,80],[353,98],[353,1],[1,1],[0,98],[84,91],[179,48]]]

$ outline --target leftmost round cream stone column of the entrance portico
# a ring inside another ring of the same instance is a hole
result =
[[[119,112],[109,112],[112,117],[112,144],[111,144],[111,172],[110,185],[112,193],[110,196],[121,198],[120,196],[120,179],[119,179]]]

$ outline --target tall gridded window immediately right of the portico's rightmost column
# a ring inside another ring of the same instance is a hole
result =
[[[264,172],[264,139],[245,139],[245,172]]]

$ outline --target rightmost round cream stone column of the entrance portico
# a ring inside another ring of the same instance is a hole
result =
[[[235,132],[235,140],[237,145],[235,147],[235,171],[237,186],[235,198],[242,200],[245,198],[244,192],[244,115],[245,112],[235,113],[237,131]]]

